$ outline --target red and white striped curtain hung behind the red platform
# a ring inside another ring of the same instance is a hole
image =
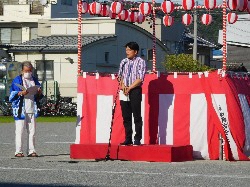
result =
[[[195,158],[219,158],[219,136],[227,160],[250,152],[250,79],[203,75],[146,75],[143,84],[143,144],[192,145]],[[118,83],[111,77],[78,78],[77,144],[108,143]],[[119,101],[112,144],[124,141]],[[245,141],[246,140],[246,141]]]

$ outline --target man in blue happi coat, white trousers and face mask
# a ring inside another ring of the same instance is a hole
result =
[[[32,76],[33,66],[30,62],[22,63],[22,74],[18,75],[11,84],[9,100],[12,102],[13,116],[15,119],[15,157],[23,157],[22,140],[23,131],[28,133],[28,157],[37,157],[35,150],[35,132],[38,99],[42,90],[40,83]],[[31,89],[33,88],[33,89]]]

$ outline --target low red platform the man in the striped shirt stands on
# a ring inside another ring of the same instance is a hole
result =
[[[105,159],[108,144],[72,144],[72,159]],[[170,145],[111,145],[110,159],[148,162],[184,162],[193,160],[193,147]]]

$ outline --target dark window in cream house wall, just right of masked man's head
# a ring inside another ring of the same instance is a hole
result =
[[[53,62],[53,60],[36,60],[36,73],[39,81],[54,80]]]

